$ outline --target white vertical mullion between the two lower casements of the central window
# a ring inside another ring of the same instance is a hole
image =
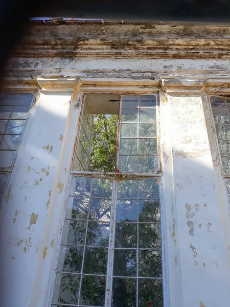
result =
[[[113,277],[113,258],[115,244],[115,228],[116,228],[116,207],[117,207],[117,191],[118,181],[112,181],[112,198],[111,198],[111,213],[110,213],[110,233],[108,244],[108,262],[106,276],[106,291],[105,291],[105,307],[111,306],[112,301],[112,277]]]

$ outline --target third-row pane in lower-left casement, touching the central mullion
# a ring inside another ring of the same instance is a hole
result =
[[[86,245],[108,247],[109,224],[88,222]]]

